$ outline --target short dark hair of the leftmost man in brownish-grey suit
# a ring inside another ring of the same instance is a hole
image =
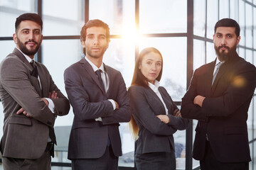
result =
[[[43,21],[41,16],[39,16],[37,13],[23,13],[21,16],[18,16],[16,18],[15,22],[15,30],[17,32],[18,26],[22,21],[34,21],[35,23],[38,23],[39,26],[41,26],[41,30],[43,30]]]

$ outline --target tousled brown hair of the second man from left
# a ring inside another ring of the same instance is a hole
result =
[[[95,20],[89,20],[87,21],[87,23],[85,23],[85,25],[82,27],[81,31],[80,31],[80,40],[85,41],[86,39],[86,34],[87,34],[87,28],[91,28],[91,27],[102,27],[106,30],[106,38],[107,38],[107,42],[110,42],[110,28],[107,25],[107,23],[104,23],[103,21],[99,20],[99,19],[95,19]],[[85,54],[85,48],[83,48],[83,52]]]

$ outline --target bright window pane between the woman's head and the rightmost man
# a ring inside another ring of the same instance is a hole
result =
[[[156,47],[161,52],[164,68],[160,84],[174,101],[181,101],[186,93],[186,38],[142,38],[139,50],[144,47]]]

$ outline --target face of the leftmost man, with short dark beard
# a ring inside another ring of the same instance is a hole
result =
[[[13,37],[18,49],[32,59],[43,40],[41,26],[33,21],[21,21]]]

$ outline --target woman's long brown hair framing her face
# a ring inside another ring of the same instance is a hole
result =
[[[148,80],[146,79],[146,77],[144,77],[144,75],[142,74],[142,71],[139,69],[139,64],[142,63],[143,57],[149,54],[150,52],[155,52],[156,54],[159,54],[161,57],[161,71],[159,72],[159,76],[156,77],[156,80],[160,81],[161,75],[163,72],[163,57],[161,55],[161,52],[159,52],[159,50],[157,50],[154,47],[146,47],[141,52],[139,52],[139,55],[136,59],[135,67],[134,67],[134,75],[132,77],[132,84],[131,84],[132,86],[134,85],[144,86],[144,87],[149,86]]]

